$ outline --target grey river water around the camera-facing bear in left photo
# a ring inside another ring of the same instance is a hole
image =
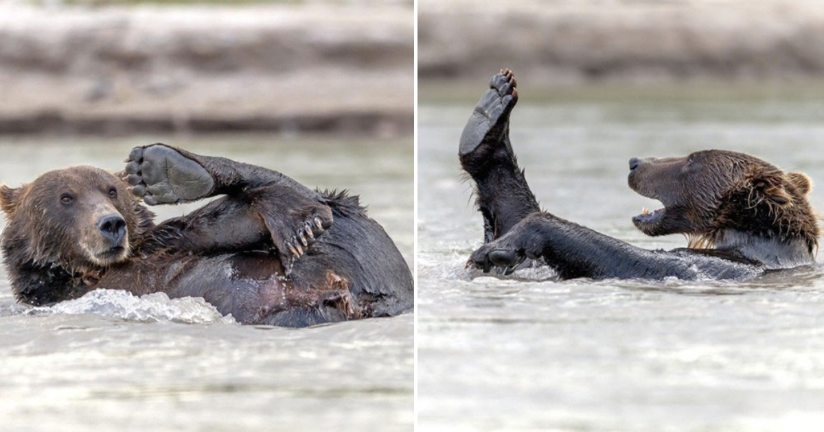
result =
[[[120,170],[133,146],[157,141],[359,193],[412,266],[411,137],[3,137],[0,181],[68,165]],[[15,303],[0,270],[0,397],[4,431],[411,430],[414,315],[251,327],[201,299],[114,290],[32,308]]]

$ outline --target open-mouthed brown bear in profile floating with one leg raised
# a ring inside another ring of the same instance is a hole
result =
[[[687,249],[639,249],[541,211],[509,142],[517,95],[512,72],[492,77],[461,134],[461,166],[485,225],[475,267],[508,273],[542,258],[562,278],[729,279],[815,262],[821,232],[808,176],[734,151],[630,159],[630,188],[664,205],[634,216],[634,225],[686,235]]]

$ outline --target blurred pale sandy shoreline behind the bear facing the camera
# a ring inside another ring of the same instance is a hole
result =
[[[414,130],[408,5],[0,2],[0,133]]]

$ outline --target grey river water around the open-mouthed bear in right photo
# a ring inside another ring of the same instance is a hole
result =
[[[648,249],[630,218],[632,156],[723,148],[818,182],[824,101],[780,91],[668,100],[532,97],[511,137],[541,207]],[[483,90],[480,83],[478,94]],[[457,140],[475,100],[419,106],[419,430],[818,430],[824,267],[747,282],[557,281],[465,268],[483,239]],[[819,262],[824,258],[819,258]]]

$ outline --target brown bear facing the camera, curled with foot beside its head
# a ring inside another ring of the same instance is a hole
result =
[[[131,188],[130,188],[131,186]],[[225,195],[155,225],[151,205]],[[412,307],[409,267],[358,197],[162,144],[119,175],[90,166],[0,187],[2,252],[17,300],[96,288],[198,296],[240,323],[302,327]]]

